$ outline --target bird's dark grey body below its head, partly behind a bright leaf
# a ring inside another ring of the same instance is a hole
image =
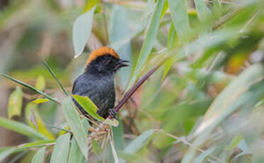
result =
[[[72,94],[88,96],[98,107],[98,115],[106,118],[108,110],[115,104],[115,86],[111,76],[94,77],[91,74],[81,74],[75,81]],[[76,106],[82,113],[87,114],[79,103]]]

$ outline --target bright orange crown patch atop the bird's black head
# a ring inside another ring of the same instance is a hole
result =
[[[103,55],[112,55],[116,59],[119,59],[119,56],[117,55],[115,50],[113,50],[112,48],[110,48],[110,47],[99,47],[98,49],[93,50],[93,52],[90,54],[90,56],[86,62],[86,66],[88,64],[90,64],[93,60],[96,60],[97,57],[100,57]]]

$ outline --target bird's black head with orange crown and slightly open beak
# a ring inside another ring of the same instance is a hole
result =
[[[121,60],[113,49],[101,47],[91,53],[86,64],[86,72],[115,74],[121,67],[127,67],[127,62]]]

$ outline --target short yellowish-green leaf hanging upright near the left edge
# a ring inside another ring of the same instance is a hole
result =
[[[13,91],[8,101],[8,118],[13,116],[21,116],[23,91],[20,86],[16,86],[16,90]]]

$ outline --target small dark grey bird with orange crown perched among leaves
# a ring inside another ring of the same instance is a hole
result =
[[[98,115],[116,118],[114,77],[118,69],[127,67],[127,60],[121,60],[117,52],[110,47],[94,50],[86,62],[84,73],[77,77],[72,87],[72,94],[88,96],[98,107]],[[73,99],[81,113],[88,113]]]

